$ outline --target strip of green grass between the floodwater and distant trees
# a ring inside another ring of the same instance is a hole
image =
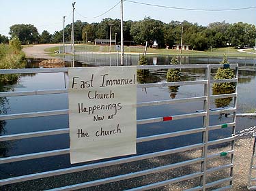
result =
[[[59,50],[59,46],[53,48],[46,48],[44,51],[48,52],[52,56],[56,55],[55,50]],[[76,45],[76,51],[80,52],[109,52],[109,46],[94,46],[94,45]],[[115,46],[111,47],[111,52],[115,51]],[[143,46],[125,46],[124,52],[143,54]],[[160,55],[180,55],[180,50],[169,49],[154,49],[147,48],[147,54],[160,54]],[[227,55],[230,57],[255,57],[256,54],[249,54],[246,52],[238,52],[236,48],[214,48],[212,51],[197,51],[197,50],[182,50],[182,55],[184,56],[223,56]]]

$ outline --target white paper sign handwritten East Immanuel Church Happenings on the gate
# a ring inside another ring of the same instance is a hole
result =
[[[69,68],[71,163],[136,154],[136,67]]]

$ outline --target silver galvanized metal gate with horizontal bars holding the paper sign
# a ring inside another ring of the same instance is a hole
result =
[[[231,127],[232,131],[235,131],[235,125],[236,125],[236,103],[237,103],[237,86],[236,86],[236,92],[232,94],[221,94],[221,95],[210,95],[210,85],[212,83],[223,83],[223,82],[235,82],[238,83],[238,64],[231,64],[229,67],[231,69],[236,69],[236,77],[230,80],[213,80],[211,79],[211,70],[217,69],[218,67],[221,67],[221,65],[160,65],[160,66],[137,66],[137,69],[150,69],[153,71],[156,71],[158,69],[205,69],[205,79],[204,80],[197,80],[197,81],[186,81],[186,82],[160,82],[160,83],[154,83],[154,84],[137,84],[137,88],[151,88],[151,87],[165,87],[165,86],[186,86],[186,85],[198,85],[201,84],[204,86],[204,95],[203,97],[188,97],[186,99],[174,99],[174,100],[164,100],[164,101],[148,101],[143,103],[137,103],[137,107],[148,107],[148,106],[155,106],[155,105],[165,105],[165,104],[173,104],[173,103],[188,103],[188,102],[194,102],[194,101],[202,101],[203,102],[203,111],[197,111],[196,113],[190,113],[190,114],[183,114],[183,115],[174,115],[174,116],[160,116],[155,118],[147,118],[147,119],[141,119],[137,120],[137,124],[148,124],[152,122],[165,122],[167,120],[181,120],[185,118],[197,118],[197,117],[203,117],[204,123],[203,127],[199,128],[190,128],[184,131],[175,131],[172,133],[164,133],[160,135],[151,135],[147,137],[139,137],[137,138],[137,143],[142,143],[145,141],[154,141],[158,139],[167,139],[171,137],[177,137],[177,136],[183,136],[183,135],[191,135],[195,133],[202,133],[203,134],[203,140],[201,143],[197,143],[194,145],[188,145],[184,147],[176,147],[171,150],[163,150],[160,152],[152,152],[150,154],[142,154],[138,156],[130,156],[125,157],[121,159],[116,160],[109,160],[106,162],[98,162],[94,164],[86,164],[79,167],[70,167],[66,169],[59,169],[55,171],[45,171],[42,173],[34,173],[30,175],[23,175],[18,177],[12,177],[8,179],[1,179],[0,180],[0,186],[6,185],[6,184],[14,184],[20,181],[28,181],[33,179],[39,179],[44,177],[51,177],[55,175],[63,175],[67,173],[75,173],[79,171],[86,171],[89,169],[96,169],[101,167],[111,167],[113,165],[117,164],[124,164],[127,162],[135,162],[139,160],[145,160],[148,158],[158,157],[158,156],[166,156],[168,154],[175,154],[179,152],[186,152],[188,150],[201,150],[201,158],[195,158],[191,160],[185,160],[183,162],[177,162],[174,164],[167,164],[165,166],[156,167],[154,169],[147,169],[143,171],[137,171],[134,173],[129,173],[126,175],[117,175],[115,177],[107,177],[104,179],[89,181],[87,183],[82,184],[76,184],[73,186],[64,186],[63,188],[57,188],[53,190],[74,190],[78,188],[87,188],[89,186],[97,186],[100,184],[106,184],[113,181],[119,181],[122,179],[130,179],[132,177],[139,177],[142,175],[148,175],[151,173],[156,172],[162,172],[167,171],[169,169],[176,169],[178,167],[184,167],[188,164],[201,164],[201,171],[197,173],[193,173],[190,175],[184,175],[182,177],[175,177],[174,179],[169,179],[166,181],[160,181],[156,182],[154,184],[149,184],[146,186],[141,186],[138,188],[132,188],[131,190],[147,190],[150,188],[158,188],[160,186],[165,186],[167,184],[173,184],[175,182],[184,181],[188,179],[192,179],[195,177],[201,177],[201,185],[197,186],[195,188],[190,188],[188,190],[205,190],[206,188],[211,188],[213,186],[218,186],[220,184],[224,184],[226,182],[229,182],[229,186],[223,186],[222,188],[218,188],[217,190],[229,190],[232,185],[232,174],[233,174],[233,145],[231,146],[231,150],[228,150],[225,152],[225,155],[223,153],[214,153],[214,154],[208,154],[208,146],[210,145],[217,145],[219,143],[226,143],[226,142],[232,142],[234,143],[233,137],[227,137],[224,139],[216,139],[214,141],[208,141],[208,132],[220,128],[227,128]],[[57,69],[11,69],[11,70],[0,70],[0,74],[6,74],[6,73],[57,73],[57,72],[68,72],[68,68],[57,68]],[[0,92],[0,97],[18,97],[18,96],[30,96],[30,95],[40,95],[40,94],[62,94],[67,93],[68,90],[66,88],[64,89],[57,89],[57,90],[35,90],[35,91],[25,91],[25,92]],[[234,107],[223,107],[223,108],[217,108],[217,109],[210,109],[210,99],[223,99],[233,97],[235,99],[234,101]],[[233,122],[229,122],[227,124],[218,124],[218,125],[209,125],[209,118],[212,115],[216,114],[229,114],[233,113]],[[42,116],[55,116],[55,115],[63,115],[68,114],[68,109],[61,109],[61,110],[53,110],[53,111],[38,111],[38,112],[30,112],[30,113],[24,113],[24,114],[8,114],[8,115],[2,115],[0,116],[0,120],[12,120],[12,119],[20,119],[20,118],[34,118],[34,117],[42,117]],[[32,132],[32,133],[19,133],[14,135],[4,135],[0,136],[0,141],[10,141],[10,140],[16,140],[16,139],[28,139],[32,137],[42,137],[42,136],[50,136],[50,135],[61,135],[68,133],[68,128],[60,128],[55,130],[49,130],[49,131],[38,131],[38,132]],[[16,162],[16,161],[22,161],[22,160],[31,160],[34,158],[42,158],[42,157],[48,157],[48,156],[59,156],[61,154],[68,154],[69,148],[62,149],[62,150],[52,150],[52,151],[46,151],[46,152],[39,152],[39,153],[32,153],[32,154],[24,154],[20,156],[10,156],[7,158],[0,158],[0,164],[6,163],[6,162]],[[208,169],[206,167],[206,164],[208,160],[212,158],[221,158],[223,156],[231,156],[231,162],[229,164],[221,165],[220,167],[212,167],[211,169]],[[221,171],[225,169],[230,169],[230,177],[220,179],[218,181],[213,182],[206,182],[206,175],[209,173],[214,173],[216,171]]]

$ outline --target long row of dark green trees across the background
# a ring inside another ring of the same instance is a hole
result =
[[[112,27],[112,39],[117,37],[120,41],[120,20],[104,18],[101,22],[89,24],[76,20],[74,22],[74,41],[93,42],[94,39],[109,39],[110,24]],[[183,27],[183,44],[189,44],[193,50],[208,50],[210,48],[252,47],[255,44],[255,25],[244,22],[229,24],[223,22],[212,22],[207,27],[186,20],[171,21],[169,23],[145,17],[139,21],[124,21],[124,40],[133,41],[134,44],[144,45],[145,41],[152,45],[156,40],[160,48],[174,44],[180,44]],[[66,42],[71,39],[72,24],[65,27]],[[38,33],[38,29],[33,24],[14,24],[10,27],[10,35],[18,37],[22,44],[46,44],[59,43],[63,41],[63,30],[50,34],[48,31]],[[8,38],[0,35],[0,43],[5,43]]]

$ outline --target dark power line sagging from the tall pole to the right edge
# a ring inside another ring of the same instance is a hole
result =
[[[155,4],[141,3],[141,2],[130,1],[130,0],[126,0],[126,1],[128,1],[130,3],[149,5],[149,6],[153,6],[153,7],[162,7],[162,8],[172,9],[172,10],[205,11],[205,12],[238,11],[238,10],[250,10],[250,9],[256,8],[256,6],[253,6],[253,7],[242,7],[242,8],[233,8],[233,9],[193,9],[193,8],[183,8],[183,7],[170,7],[170,6],[165,6],[165,5],[155,5]]]

